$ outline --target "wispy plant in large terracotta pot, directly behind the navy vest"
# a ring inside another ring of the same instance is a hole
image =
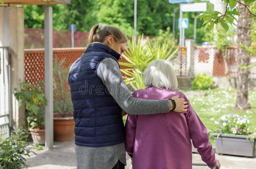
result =
[[[64,65],[65,59],[54,60],[54,117],[53,130],[55,141],[68,141],[74,137],[75,121],[73,119],[73,106],[68,89],[69,69]]]

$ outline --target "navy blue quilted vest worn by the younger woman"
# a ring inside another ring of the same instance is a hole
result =
[[[76,145],[96,147],[124,142],[122,109],[97,76],[97,66],[104,58],[118,62],[119,57],[107,45],[92,43],[70,68]]]

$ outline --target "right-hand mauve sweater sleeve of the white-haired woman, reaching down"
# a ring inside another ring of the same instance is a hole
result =
[[[208,166],[215,166],[216,159],[214,151],[212,150],[212,144],[209,142],[208,131],[197,116],[189,101],[188,105],[188,115],[186,118],[193,145],[201,155],[201,159]]]

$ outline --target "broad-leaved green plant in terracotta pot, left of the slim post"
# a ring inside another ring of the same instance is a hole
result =
[[[27,122],[34,144],[44,144],[45,127],[44,111],[40,110],[46,106],[47,100],[41,88],[26,82],[21,82],[20,89],[14,88],[14,96],[20,104],[25,103],[28,111]]]

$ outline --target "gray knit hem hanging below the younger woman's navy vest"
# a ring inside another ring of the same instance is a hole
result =
[[[89,147],[75,145],[78,169],[112,169],[120,160],[126,165],[125,144]]]

